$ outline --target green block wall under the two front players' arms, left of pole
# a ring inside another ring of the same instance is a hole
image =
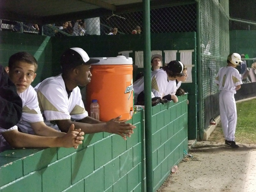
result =
[[[126,141],[109,133],[87,134],[79,148],[13,149],[0,154],[0,191],[141,191],[143,113]]]

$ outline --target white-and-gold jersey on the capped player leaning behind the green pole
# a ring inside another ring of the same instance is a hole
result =
[[[155,97],[163,97],[168,85],[168,76],[163,69],[151,71],[151,92]],[[137,97],[144,90],[144,77],[133,83],[134,102],[137,102]]]

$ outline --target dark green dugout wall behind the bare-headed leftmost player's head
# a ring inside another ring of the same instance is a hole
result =
[[[38,69],[32,86],[52,76],[52,43],[51,37],[0,31],[0,62],[8,66],[9,57],[16,52],[28,52],[37,62]]]

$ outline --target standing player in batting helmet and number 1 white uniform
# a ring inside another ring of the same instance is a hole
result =
[[[235,142],[236,132],[236,101],[234,94],[240,89],[242,80],[236,66],[239,65],[241,56],[238,53],[228,55],[226,67],[220,68],[215,83],[218,84],[220,95],[220,121],[225,136],[225,145],[232,148],[239,148]]]

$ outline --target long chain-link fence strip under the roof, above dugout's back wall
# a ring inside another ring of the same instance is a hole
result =
[[[196,4],[152,9],[150,20],[151,33],[196,31]],[[75,26],[77,22],[78,33],[76,33],[77,26]],[[117,34],[132,34],[134,30],[134,33],[143,33],[142,26],[143,13],[139,11],[49,24],[43,26],[43,32],[47,36],[108,35],[113,28],[117,28]],[[1,20],[1,30],[41,34],[41,26],[9,20]]]

